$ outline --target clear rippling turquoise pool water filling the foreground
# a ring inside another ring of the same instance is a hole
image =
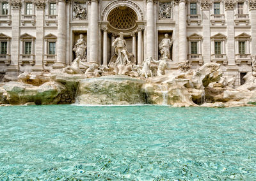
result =
[[[256,180],[256,108],[0,108],[0,180]]]

